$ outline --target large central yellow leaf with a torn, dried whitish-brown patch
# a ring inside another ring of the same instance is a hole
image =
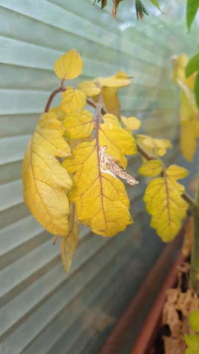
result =
[[[116,176],[137,183],[122,169],[124,155],[135,152],[133,137],[107,114],[96,121],[96,139],[78,145],[63,162],[75,174],[69,199],[76,203],[78,220],[96,234],[114,236],[132,223],[124,185]]]

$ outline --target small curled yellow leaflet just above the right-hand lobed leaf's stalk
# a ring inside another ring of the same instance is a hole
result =
[[[151,156],[163,156],[167,149],[172,148],[172,144],[167,139],[156,139],[144,134],[136,135],[137,143],[143,147]]]

